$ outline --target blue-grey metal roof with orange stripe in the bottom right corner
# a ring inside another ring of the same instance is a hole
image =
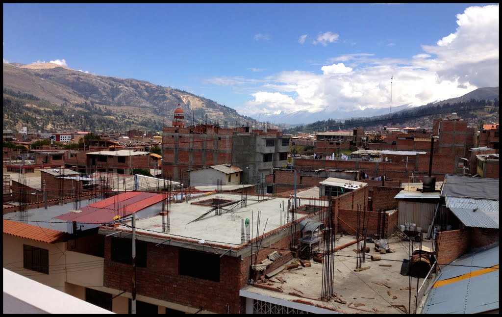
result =
[[[483,268],[498,265],[498,246],[458,258],[441,269],[434,282],[446,281]],[[468,277],[468,276],[467,276]],[[425,301],[422,313],[481,313],[498,310],[498,269],[457,282],[433,287]]]

